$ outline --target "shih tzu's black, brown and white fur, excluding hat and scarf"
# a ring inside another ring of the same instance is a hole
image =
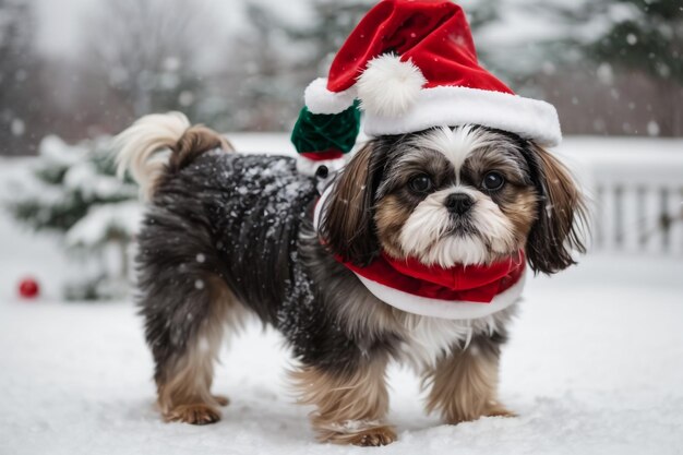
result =
[[[316,181],[297,173],[293,158],[239,155],[180,115],[141,119],[119,146],[120,169],[148,197],[139,301],[167,420],[218,420],[227,400],[209,391],[213,363],[248,313],[291,346],[299,362],[291,376],[301,402],[316,407],[322,441],[396,439],[384,421],[392,360],[423,375],[427,409],[446,422],[507,416],[498,366],[515,306],[471,321],[405,313],[335,255],[363,265],[384,251],[447,267],[524,248],[535,272],[551,274],[583,250],[584,205],[566,169],[532,142],[482,127],[368,142],[333,182],[317,232]],[[492,170],[505,181],[496,191],[481,187]],[[429,179],[429,191],[415,191],[416,176]],[[445,209],[453,193],[471,208]]]

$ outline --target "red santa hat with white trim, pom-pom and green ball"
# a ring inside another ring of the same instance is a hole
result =
[[[292,142],[307,173],[338,168],[358,134],[359,108],[371,137],[474,123],[546,146],[562,139],[552,105],[515,95],[479,65],[465,13],[450,1],[380,2],[304,98]]]

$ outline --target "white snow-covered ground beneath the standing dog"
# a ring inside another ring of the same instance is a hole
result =
[[[502,363],[502,400],[519,417],[442,426],[422,414],[412,373],[393,368],[399,441],[375,450],[313,441],[310,408],[285,381],[288,352],[255,325],[223,356],[223,420],[163,423],[135,309],[59,301],[68,268],[53,239],[0,214],[0,455],[683,454],[681,258],[590,255],[531,279]],[[24,274],[43,299],[14,297]]]

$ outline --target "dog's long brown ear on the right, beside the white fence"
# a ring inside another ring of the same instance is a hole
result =
[[[586,252],[586,203],[571,172],[558,158],[532,143],[527,152],[531,179],[539,193],[537,220],[527,240],[527,260],[535,273],[553,274],[576,263],[573,250]]]

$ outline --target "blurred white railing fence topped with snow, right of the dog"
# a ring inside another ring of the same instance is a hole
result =
[[[683,141],[575,137],[560,153],[592,197],[592,250],[683,256]]]

